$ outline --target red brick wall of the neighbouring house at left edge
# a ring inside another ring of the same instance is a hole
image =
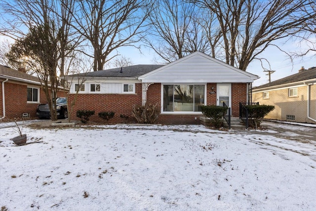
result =
[[[3,80],[2,80],[3,81]],[[0,117],[3,116],[2,81],[0,82]],[[39,87],[30,85],[32,87]],[[10,81],[4,83],[5,91],[5,116],[7,118],[21,117],[23,113],[29,113],[30,118],[36,117],[38,103],[27,103],[27,85],[13,84]],[[67,96],[64,91],[58,92],[58,96]],[[46,103],[46,97],[40,88],[40,103]]]

